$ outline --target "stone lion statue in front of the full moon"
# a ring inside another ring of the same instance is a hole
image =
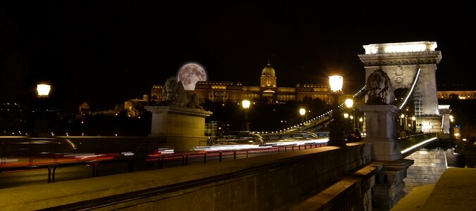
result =
[[[197,94],[188,95],[182,82],[175,76],[167,79],[162,87],[162,101],[167,106],[203,108],[198,102]]]

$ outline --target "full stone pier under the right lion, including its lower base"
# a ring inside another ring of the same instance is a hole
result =
[[[372,187],[373,209],[390,210],[405,196],[403,179],[413,164],[413,160],[403,159],[401,144],[396,138],[399,110],[393,105],[367,105],[358,109],[365,113],[365,141],[372,143],[372,160],[383,163]]]

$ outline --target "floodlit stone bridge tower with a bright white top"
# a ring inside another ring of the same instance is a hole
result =
[[[441,51],[435,51],[435,41],[413,41],[387,44],[369,44],[363,46],[365,54],[358,55],[365,68],[365,79],[382,69],[389,75],[393,91],[413,89],[417,130],[423,132],[441,132],[441,118],[437,96],[437,64],[441,60]],[[415,73],[420,76],[412,87]]]

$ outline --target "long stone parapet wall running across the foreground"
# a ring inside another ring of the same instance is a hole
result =
[[[0,210],[274,210],[305,193],[326,189],[341,181],[346,173],[368,165],[370,159],[369,143],[352,143],[346,148],[327,146],[6,188],[0,191]],[[363,193],[354,194],[353,201],[368,205],[370,198],[365,193],[370,193],[370,188],[367,186]],[[338,203],[332,199],[346,191],[336,190],[323,195],[325,203]],[[323,207],[326,206],[329,207]]]

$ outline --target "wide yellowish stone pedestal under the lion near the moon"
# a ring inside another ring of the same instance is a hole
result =
[[[175,151],[190,151],[206,143],[205,117],[212,112],[173,106],[145,106],[145,109],[152,113],[149,136],[164,140]]]

